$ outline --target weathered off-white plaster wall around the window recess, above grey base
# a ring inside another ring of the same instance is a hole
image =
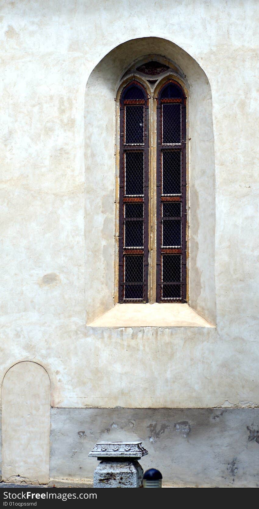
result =
[[[257,2],[17,0],[1,11],[2,379],[34,360],[52,406],[257,406]],[[109,51],[145,37],[182,48],[211,87],[216,328],[85,325],[85,87]]]

